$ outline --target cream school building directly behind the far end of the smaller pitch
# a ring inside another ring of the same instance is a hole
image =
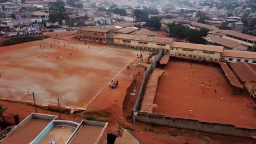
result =
[[[172,56],[216,62],[219,61],[222,52],[223,46],[179,42],[172,43],[170,50]]]

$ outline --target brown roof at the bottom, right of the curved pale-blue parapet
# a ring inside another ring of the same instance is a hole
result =
[[[104,133],[108,123],[82,121],[78,130],[73,135],[68,143],[83,144],[83,143],[98,143]]]

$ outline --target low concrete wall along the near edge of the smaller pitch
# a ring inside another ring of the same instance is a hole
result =
[[[207,133],[251,138],[253,136],[256,136],[256,129],[236,127],[236,125],[232,124],[201,122],[197,119],[166,117],[164,115],[150,114],[144,112],[139,112],[135,118],[136,120],[142,122],[165,125],[168,127],[203,131]]]

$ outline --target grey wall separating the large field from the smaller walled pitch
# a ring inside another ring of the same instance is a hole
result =
[[[158,61],[160,61],[162,56],[164,56],[164,51],[161,50],[159,52],[158,56],[155,58],[154,62],[148,67],[148,69],[143,74],[143,77],[141,80],[141,86],[139,87],[139,91],[138,91],[138,95],[137,95],[137,99],[135,101],[135,105],[133,106],[133,112],[137,112],[141,108],[141,103],[142,103],[143,96],[144,96],[144,95],[142,95],[142,92],[145,89],[145,86],[146,86],[147,80],[149,79],[150,73],[152,73],[152,71],[156,68],[156,63]]]

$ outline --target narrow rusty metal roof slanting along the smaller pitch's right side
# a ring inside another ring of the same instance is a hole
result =
[[[222,67],[226,77],[228,77],[229,82],[232,86],[242,88],[243,85],[240,83],[240,81],[237,79],[236,75],[233,73],[233,71],[229,68],[228,64],[224,62],[219,62],[220,66]]]

